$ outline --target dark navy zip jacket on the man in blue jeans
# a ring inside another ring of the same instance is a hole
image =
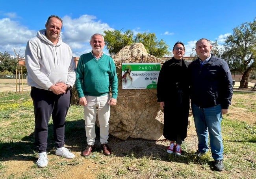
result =
[[[228,109],[233,95],[231,72],[226,61],[211,55],[202,66],[199,58],[189,64],[191,103],[202,108],[221,104],[221,109]]]

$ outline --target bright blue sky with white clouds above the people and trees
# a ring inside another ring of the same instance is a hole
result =
[[[221,45],[233,28],[256,17],[255,0],[9,0],[0,7],[0,52],[24,55],[26,42],[50,15],[63,19],[61,37],[74,57],[90,52],[89,39],[103,30],[155,33],[170,48],[185,44],[189,56],[200,38]],[[105,53],[108,54],[106,49]]]

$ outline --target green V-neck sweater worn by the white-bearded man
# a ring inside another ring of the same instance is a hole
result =
[[[103,54],[98,60],[92,52],[83,54],[76,67],[75,87],[78,97],[104,96],[110,92],[117,99],[117,72],[111,57]]]

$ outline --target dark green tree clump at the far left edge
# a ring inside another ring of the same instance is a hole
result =
[[[7,70],[12,74],[16,74],[17,65],[17,59],[11,59],[8,52],[0,52],[0,72]]]

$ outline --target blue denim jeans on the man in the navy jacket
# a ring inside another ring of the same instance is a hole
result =
[[[221,137],[221,105],[208,108],[199,108],[197,105],[191,104],[191,109],[195,121],[199,151],[208,151],[209,132],[210,147],[213,159],[223,159],[223,144]]]

